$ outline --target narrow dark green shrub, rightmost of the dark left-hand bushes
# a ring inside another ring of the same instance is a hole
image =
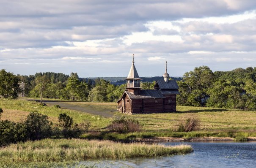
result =
[[[78,125],[74,123],[73,118],[66,113],[60,114],[58,119],[65,138],[74,138],[81,134],[81,130]]]

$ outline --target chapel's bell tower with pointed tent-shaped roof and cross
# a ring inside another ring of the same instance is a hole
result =
[[[132,67],[127,76],[127,90],[128,92],[139,95],[140,94],[140,78],[134,65],[134,54],[132,54]]]

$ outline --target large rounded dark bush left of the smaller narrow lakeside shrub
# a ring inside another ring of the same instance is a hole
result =
[[[31,112],[25,121],[28,130],[28,138],[30,140],[38,140],[50,137],[52,122],[48,120],[47,115]]]

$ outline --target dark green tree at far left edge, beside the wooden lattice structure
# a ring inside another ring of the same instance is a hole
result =
[[[13,73],[0,70],[0,95],[4,98],[17,98],[19,94],[18,77]]]

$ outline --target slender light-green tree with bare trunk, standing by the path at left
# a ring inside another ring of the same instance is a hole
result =
[[[35,87],[35,89],[39,92],[40,104],[42,104],[44,91],[47,89],[49,84],[50,84],[50,79],[47,76],[38,76],[36,78],[36,87]]]

